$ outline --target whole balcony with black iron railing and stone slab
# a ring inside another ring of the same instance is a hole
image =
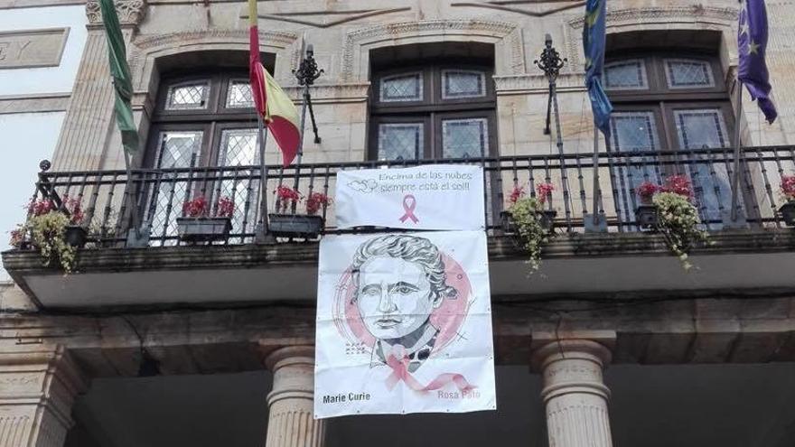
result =
[[[64,276],[43,267],[33,250],[7,251],[3,260],[15,282],[42,307],[313,300],[317,238],[268,239],[259,225],[263,210],[304,212],[303,203],[277,200],[274,191],[279,185],[304,195],[322,191],[333,197],[335,175],[343,170],[474,163],[485,172],[495,296],[795,292],[795,231],[786,228],[778,212],[781,178],[795,173],[795,147],[744,149],[735,219],[730,149],[603,153],[595,161],[594,166],[593,154],[566,154],[316,163],[267,166],[265,181],[259,166],[134,170],[130,178],[125,171],[42,171],[34,199],[78,200],[84,222],[89,222],[89,243],[79,250],[77,271]],[[594,172],[599,174],[598,188]],[[694,251],[698,268],[690,273],[669,255],[662,237],[641,230],[634,213],[634,188],[675,173],[687,175],[693,183],[703,227],[711,232],[712,243]],[[544,249],[541,271],[528,278],[524,253],[514,237],[504,234],[500,211],[515,185],[533,191],[538,182],[551,182],[556,188],[556,237]],[[176,219],[182,205],[200,195],[210,204],[220,197],[234,202],[228,238],[186,243],[179,237]],[[603,225],[594,225],[594,210]],[[320,237],[352,231],[335,228],[333,204],[318,214],[325,221]],[[137,232],[132,225],[136,219],[142,222]]]

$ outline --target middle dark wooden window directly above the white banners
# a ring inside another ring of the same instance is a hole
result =
[[[376,160],[494,154],[491,69],[428,63],[376,71],[369,156]]]

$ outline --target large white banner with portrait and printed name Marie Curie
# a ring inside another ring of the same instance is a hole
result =
[[[315,418],[496,409],[482,231],[326,236]]]

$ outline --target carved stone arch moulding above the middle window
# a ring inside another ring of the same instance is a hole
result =
[[[427,42],[485,42],[494,45],[495,75],[525,72],[524,43],[515,23],[485,20],[422,20],[388,23],[351,31],[342,49],[341,79],[369,79],[369,51],[392,45]]]

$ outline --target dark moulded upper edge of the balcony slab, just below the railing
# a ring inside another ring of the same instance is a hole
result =
[[[795,251],[795,232],[789,229],[726,230],[710,234],[708,246],[696,247],[693,255],[734,255]],[[181,246],[103,248],[79,251],[81,273],[135,272],[150,270],[200,270],[250,268],[262,265],[317,265],[316,242],[276,245]],[[43,267],[38,252],[3,252],[3,264],[12,276],[61,275]],[[544,259],[605,256],[668,256],[664,237],[646,233],[559,235],[543,247]],[[524,259],[526,253],[512,237],[489,237],[491,261]],[[79,274],[74,274],[79,275]],[[19,281],[16,281],[20,284]]]

